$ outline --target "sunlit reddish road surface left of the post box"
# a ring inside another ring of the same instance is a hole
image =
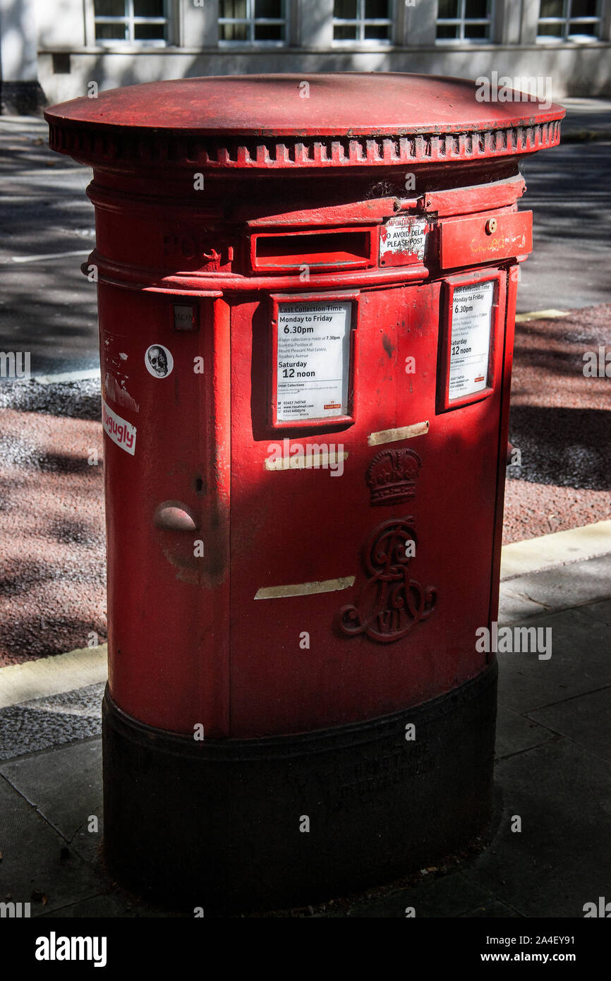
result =
[[[91,632],[104,641],[106,572],[99,423],[0,420],[1,666],[87,646]]]

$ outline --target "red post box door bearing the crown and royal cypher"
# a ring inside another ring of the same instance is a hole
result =
[[[350,404],[311,401],[337,418],[288,428],[270,409],[273,321],[295,296],[232,307],[232,736],[380,716],[483,669],[506,289],[485,269],[357,291]],[[327,297],[331,336],[342,296]],[[320,295],[308,302],[320,312]],[[307,349],[295,363],[314,363]]]

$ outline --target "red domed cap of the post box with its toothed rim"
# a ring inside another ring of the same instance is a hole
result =
[[[562,106],[483,96],[477,82],[441,76],[202,77],[114,88],[44,116],[52,149],[112,170],[447,165],[560,141]]]

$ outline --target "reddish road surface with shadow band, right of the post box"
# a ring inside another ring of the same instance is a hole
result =
[[[611,354],[611,304],[516,325],[503,542],[611,518],[611,378],[586,378],[584,354]],[[611,363],[609,365],[611,374]]]

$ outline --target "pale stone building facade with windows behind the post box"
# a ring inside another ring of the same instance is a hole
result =
[[[5,111],[34,90],[264,72],[496,72],[608,96],[610,49],[611,0],[0,0]]]

